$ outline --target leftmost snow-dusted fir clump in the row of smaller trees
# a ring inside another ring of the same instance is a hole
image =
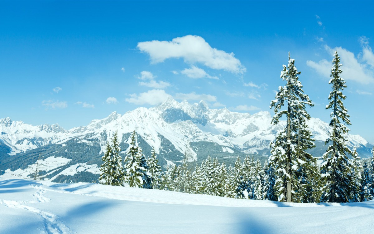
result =
[[[107,142],[105,154],[101,158],[103,163],[100,167],[99,181],[105,185],[123,186],[125,175],[123,173],[122,157],[119,155],[121,149],[118,143],[117,131],[111,140],[112,145]]]

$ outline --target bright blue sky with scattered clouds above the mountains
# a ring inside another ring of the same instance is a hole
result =
[[[352,134],[374,143],[371,1],[0,1],[0,118],[65,129],[166,97],[269,109],[288,51],[325,110],[335,49]]]

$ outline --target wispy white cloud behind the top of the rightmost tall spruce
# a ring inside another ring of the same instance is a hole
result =
[[[341,77],[345,80],[353,80],[362,84],[374,83],[374,55],[368,44],[362,43],[362,56],[355,57],[355,55],[347,49],[341,47],[330,48],[325,45],[325,50],[333,58],[335,50],[338,51],[340,62],[343,64],[341,70],[343,73]],[[326,78],[330,77],[332,62],[323,59],[318,63],[308,60],[307,66],[316,70],[316,72]]]

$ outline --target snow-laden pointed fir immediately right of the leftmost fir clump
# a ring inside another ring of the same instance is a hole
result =
[[[131,143],[129,150],[125,158],[125,172],[126,177],[125,181],[129,184],[130,187],[143,188],[144,185],[147,185],[147,171],[142,164],[142,150],[137,146],[136,143],[137,133],[134,131],[131,135]]]

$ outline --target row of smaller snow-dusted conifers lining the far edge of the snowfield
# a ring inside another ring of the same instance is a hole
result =
[[[207,194],[230,198],[246,198],[255,200],[278,200],[276,196],[277,172],[267,161],[264,166],[257,159],[246,156],[243,160],[237,157],[234,166],[219,163],[217,158],[210,156],[201,164],[197,164],[191,170],[187,160],[181,165],[174,165],[163,171],[157,164],[156,152],[153,149],[147,159],[142,154],[142,149],[137,146],[136,132],[131,136],[131,143],[124,163],[120,156],[117,132],[111,139],[111,145],[107,142],[105,155],[102,157],[99,181],[106,185],[162,189],[190,194]],[[371,164],[362,161],[359,157],[352,159],[358,170],[352,172],[355,183],[352,191],[347,194],[349,201],[367,201],[374,197],[374,149]],[[300,189],[295,197],[295,202],[318,203],[323,201],[324,182],[321,167],[315,163],[315,176],[301,181]],[[306,177],[304,177],[305,179]]]

